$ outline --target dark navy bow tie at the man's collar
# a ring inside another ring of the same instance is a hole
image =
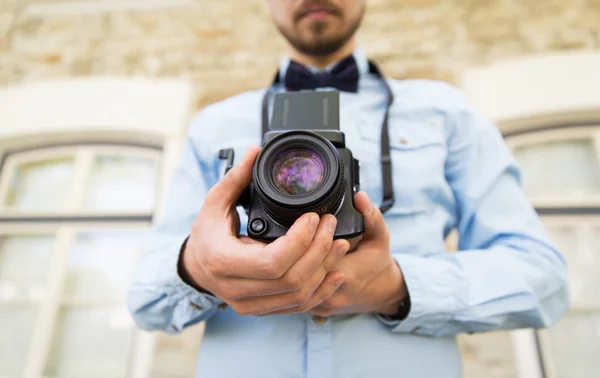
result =
[[[288,91],[332,87],[343,92],[358,91],[358,68],[352,55],[340,61],[331,72],[313,74],[303,65],[291,61],[285,74]]]

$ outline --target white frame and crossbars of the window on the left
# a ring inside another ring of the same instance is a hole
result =
[[[0,235],[49,235],[54,236],[54,247],[50,257],[50,265],[46,276],[45,295],[39,302],[27,301],[28,304],[37,306],[36,320],[32,336],[29,340],[29,350],[22,377],[45,377],[50,347],[54,332],[57,329],[57,317],[61,307],[64,306],[62,289],[67,274],[67,262],[70,247],[74,245],[79,232],[86,230],[104,229],[139,229],[147,230],[152,225],[156,208],[161,202],[161,189],[165,176],[165,167],[171,158],[166,155],[174,146],[132,143],[119,140],[87,140],[69,141],[64,143],[46,143],[34,146],[0,150]],[[73,155],[72,153],[75,152]],[[72,190],[83,193],[84,184],[91,173],[91,162],[94,154],[113,152],[114,156],[152,156],[156,158],[154,205],[147,212],[100,212],[77,209],[76,201],[71,199],[69,211],[54,212],[24,212],[7,209],[3,206],[14,168],[19,162],[35,161],[35,157],[44,159],[55,156],[74,156],[75,165]],[[137,261],[138,255],[134,258]],[[25,301],[9,301],[7,303],[25,304]],[[115,305],[111,303],[94,303],[94,305]],[[89,306],[90,304],[83,304]],[[129,355],[127,356],[127,377],[143,377],[147,366],[141,362],[148,360],[152,352],[154,338],[144,331],[132,326]]]

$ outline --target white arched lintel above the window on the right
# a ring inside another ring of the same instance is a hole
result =
[[[600,119],[600,52],[524,56],[467,70],[462,88],[504,131]]]

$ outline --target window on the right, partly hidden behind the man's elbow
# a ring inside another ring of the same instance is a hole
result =
[[[538,332],[548,378],[600,370],[600,125],[507,138],[523,184],[569,267],[571,309]]]

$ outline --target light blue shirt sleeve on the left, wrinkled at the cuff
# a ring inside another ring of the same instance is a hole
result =
[[[199,158],[198,146],[198,140],[188,134],[173,172],[164,211],[143,243],[142,256],[129,287],[127,305],[142,329],[178,333],[208,319],[224,303],[188,285],[177,269],[182,245],[208,188],[216,181],[212,167]]]

